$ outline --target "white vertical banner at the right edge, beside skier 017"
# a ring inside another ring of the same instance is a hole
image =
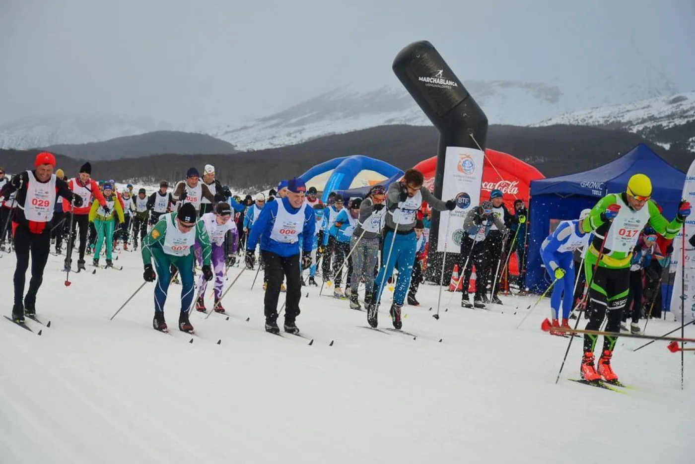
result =
[[[682,198],[695,205],[695,161],[690,165],[688,174],[685,176]],[[667,219],[671,219],[667,217]],[[671,293],[671,313],[678,316],[680,321],[681,288],[683,287],[682,277],[685,271],[685,298],[683,309],[685,310],[685,320],[695,317],[695,248],[689,243],[689,238],[695,235],[695,216],[690,215],[685,221],[685,262],[681,263],[683,234],[682,229],[673,239],[673,254],[671,254],[671,270],[676,267],[676,279],[673,281],[673,292]]]

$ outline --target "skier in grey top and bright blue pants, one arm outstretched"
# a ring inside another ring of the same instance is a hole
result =
[[[434,197],[430,190],[423,187],[424,182],[425,178],[422,172],[417,169],[408,169],[403,179],[389,185],[389,191],[386,195],[387,212],[384,216],[385,235],[382,244],[382,256],[386,262],[382,263],[382,267],[379,269],[379,275],[374,283],[372,301],[367,307],[367,322],[370,326],[377,326],[377,313],[384,284],[389,280],[396,263],[398,263],[398,279],[389,313],[395,329],[400,329],[402,326],[400,308],[403,306],[410,286],[410,276],[413,272],[418,242],[414,231],[416,213],[423,201],[427,201],[432,208],[439,211],[456,208],[456,201],[442,201]]]

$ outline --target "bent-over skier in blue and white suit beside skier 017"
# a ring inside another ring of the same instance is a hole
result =
[[[553,279],[553,293],[550,295],[550,317],[553,327],[570,329],[569,313],[574,301],[574,251],[586,249],[591,233],[584,231],[582,220],[591,213],[583,210],[579,219],[562,221],[546,240],[541,244],[541,258],[546,265],[546,272]],[[559,324],[558,313],[562,300],[562,324]],[[562,335],[558,331],[550,331],[552,335]]]

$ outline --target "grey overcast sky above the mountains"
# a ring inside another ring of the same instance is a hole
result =
[[[694,0],[0,0],[0,122],[66,112],[268,115],[398,84],[430,40],[461,81],[620,76],[695,90]]]

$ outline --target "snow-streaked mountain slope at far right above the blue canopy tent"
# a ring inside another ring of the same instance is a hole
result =
[[[566,113],[533,126],[554,124],[623,129],[667,149],[695,151],[695,92]]]

